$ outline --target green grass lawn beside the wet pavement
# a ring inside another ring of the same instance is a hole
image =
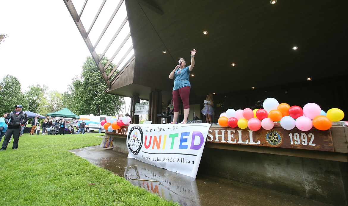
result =
[[[97,136],[24,134],[17,150],[11,140],[0,151],[0,205],[177,205],[69,152]]]

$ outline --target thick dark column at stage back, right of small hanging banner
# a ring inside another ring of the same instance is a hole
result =
[[[157,89],[151,90],[149,101],[149,121],[152,124],[160,124],[161,118],[157,114],[162,113],[162,92]]]

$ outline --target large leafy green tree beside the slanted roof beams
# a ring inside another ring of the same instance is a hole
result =
[[[101,60],[103,66],[108,63],[108,59],[104,56]],[[115,67],[110,64],[106,72],[110,72]],[[116,75],[117,71],[114,73]],[[71,98],[73,108],[71,110],[75,114],[94,114],[94,115],[115,115],[122,110],[125,103],[124,97],[106,94],[105,81],[100,74],[98,67],[91,56],[86,58],[82,66],[82,80],[73,79],[70,85],[70,96],[64,94],[64,102],[67,98]],[[66,98],[65,98],[66,97]],[[65,103],[68,104],[68,103]]]

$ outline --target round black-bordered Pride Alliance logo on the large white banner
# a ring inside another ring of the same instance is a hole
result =
[[[144,142],[143,130],[140,126],[134,126],[130,129],[127,137],[127,146],[129,150],[134,154],[138,155]]]

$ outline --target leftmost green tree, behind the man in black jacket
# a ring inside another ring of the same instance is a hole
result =
[[[23,111],[28,109],[28,102],[21,91],[21,83],[11,75],[4,76],[0,81],[0,114],[11,112],[16,105],[22,105]]]

